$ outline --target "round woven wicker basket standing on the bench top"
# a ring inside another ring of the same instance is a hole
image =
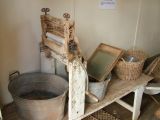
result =
[[[146,54],[142,51],[126,51],[124,56],[133,56],[138,59],[136,62],[127,62],[123,58],[117,63],[115,72],[122,80],[136,80],[142,74]]]

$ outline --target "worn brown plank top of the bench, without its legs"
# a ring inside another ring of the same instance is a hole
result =
[[[113,102],[116,102],[117,100],[126,96],[127,94],[134,92],[139,87],[146,86],[147,83],[152,79],[152,77],[149,77],[145,74],[142,74],[141,77],[137,80],[130,81],[113,78],[108,86],[108,91],[105,98],[102,101],[95,104],[86,104],[85,114],[77,119],[83,119],[91,115],[92,113],[104,108],[105,106],[108,106]],[[68,120],[68,115],[64,117],[64,120]]]

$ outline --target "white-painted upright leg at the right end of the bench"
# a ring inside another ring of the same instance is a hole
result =
[[[135,90],[132,120],[137,120],[140,115],[143,92],[144,86]]]

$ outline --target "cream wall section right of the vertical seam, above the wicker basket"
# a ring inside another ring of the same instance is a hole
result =
[[[160,53],[160,0],[143,0],[136,47],[150,55]]]

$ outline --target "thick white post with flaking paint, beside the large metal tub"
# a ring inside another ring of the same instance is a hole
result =
[[[84,115],[85,79],[86,73],[79,61],[69,62],[69,120]]]

